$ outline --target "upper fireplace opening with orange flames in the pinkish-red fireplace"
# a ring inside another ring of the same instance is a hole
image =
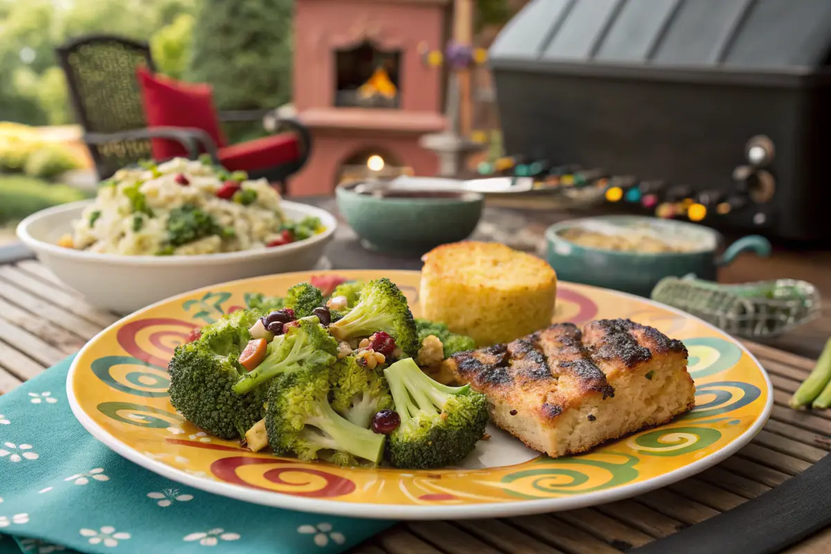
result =
[[[396,109],[400,106],[401,51],[382,51],[371,42],[335,51],[335,105]]]

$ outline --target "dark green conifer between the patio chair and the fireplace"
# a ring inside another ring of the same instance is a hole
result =
[[[292,91],[293,1],[202,4],[188,80],[214,86],[217,105],[225,110],[286,103]]]

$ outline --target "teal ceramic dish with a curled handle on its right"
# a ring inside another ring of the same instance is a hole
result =
[[[684,251],[639,252],[583,246],[563,238],[562,234],[570,228],[629,236],[647,233],[662,242],[682,246]],[[715,281],[717,268],[730,264],[742,252],[770,255],[770,243],[759,235],[740,238],[719,256],[721,236],[711,228],[641,216],[564,221],[549,227],[545,238],[546,258],[558,279],[631,292],[641,297],[649,297],[652,288],[664,277],[694,274],[700,279]]]

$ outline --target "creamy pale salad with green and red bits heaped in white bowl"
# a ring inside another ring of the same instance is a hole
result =
[[[210,159],[120,169],[59,244],[126,256],[195,255],[276,247],[321,233],[320,220],[289,221],[266,179]]]

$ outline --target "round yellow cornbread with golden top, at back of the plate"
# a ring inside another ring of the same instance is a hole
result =
[[[434,248],[421,259],[422,316],[478,346],[513,341],[551,323],[557,274],[538,257],[470,241]]]

